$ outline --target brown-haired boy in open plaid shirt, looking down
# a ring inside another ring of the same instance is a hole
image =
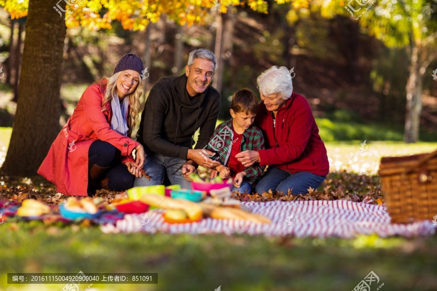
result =
[[[232,192],[251,193],[264,172],[264,167],[257,162],[246,168],[235,158],[241,151],[264,148],[261,130],[252,125],[258,108],[258,99],[251,90],[244,88],[235,92],[230,110],[232,119],[218,125],[207,146],[216,153],[211,159],[221,163],[213,170],[211,178],[217,175],[223,179],[233,178]]]

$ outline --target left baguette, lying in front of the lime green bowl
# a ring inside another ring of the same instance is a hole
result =
[[[184,210],[191,220],[199,221],[202,219],[202,208],[198,203],[183,199],[173,199],[158,194],[142,195],[140,201],[158,208]]]

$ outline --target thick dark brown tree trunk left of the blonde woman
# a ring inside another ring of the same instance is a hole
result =
[[[59,2],[65,10],[65,1]],[[65,16],[56,0],[30,0],[17,113],[1,173],[32,176],[59,132]]]

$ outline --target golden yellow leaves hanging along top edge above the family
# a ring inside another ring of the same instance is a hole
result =
[[[267,13],[265,0],[64,0],[67,27],[79,25],[91,30],[111,28],[111,22],[118,20],[124,29],[145,30],[150,22],[158,21],[163,14],[180,25],[203,24],[211,9],[226,13],[229,6],[249,6],[259,13]],[[276,0],[291,2],[295,9],[308,7],[308,0]],[[69,5],[72,4],[72,5]],[[27,16],[29,0],[0,0],[0,6],[11,17]],[[105,13],[102,13],[105,11]],[[53,17],[57,17],[53,9]]]

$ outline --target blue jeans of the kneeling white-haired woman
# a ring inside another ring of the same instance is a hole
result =
[[[297,172],[290,174],[287,171],[278,169],[275,166],[269,166],[266,173],[255,186],[255,193],[262,194],[263,192],[272,192],[275,190],[288,194],[291,189],[291,194],[306,194],[308,188],[316,189],[325,180],[326,176],[319,176],[309,172]]]

